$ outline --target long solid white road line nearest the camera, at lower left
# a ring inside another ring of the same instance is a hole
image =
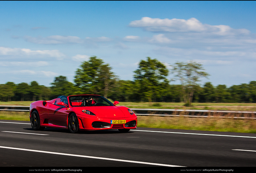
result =
[[[21,149],[21,148],[13,148],[13,147],[3,147],[3,146],[0,146],[0,148],[15,149],[15,150],[21,150],[21,151],[32,151],[32,152],[37,152],[37,153],[47,153],[47,154],[55,154],[55,155],[84,157],[84,158],[90,158],[90,159],[101,159],[101,160],[109,160],[109,161],[121,161],[121,162],[128,162],[128,163],[139,163],[139,164],[146,164],[146,165],[156,165],[156,166],[166,166],[166,167],[182,167],[182,166],[177,166],[177,165],[166,165],[166,164],[161,164],[161,163],[149,163],[149,162],[141,162],[141,161],[111,159],[111,158],[105,158],[105,157],[93,157],[93,156],[85,156],[85,155],[74,155],[74,154],[67,154],[67,153],[56,153],[56,152],[50,152],[50,151],[40,151],[40,150],[32,150],[32,149]]]

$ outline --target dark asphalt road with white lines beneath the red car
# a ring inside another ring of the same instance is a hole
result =
[[[137,128],[71,134],[0,120],[0,167],[255,167],[255,144],[250,133]]]

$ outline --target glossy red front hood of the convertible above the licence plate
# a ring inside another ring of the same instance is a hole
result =
[[[83,110],[91,111],[98,118],[126,118],[135,115],[130,115],[128,108],[123,106],[77,107],[76,110],[80,115],[87,115],[82,113]]]

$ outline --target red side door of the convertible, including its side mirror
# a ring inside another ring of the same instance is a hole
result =
[[[49,104],[49,123],[53,125],[67,127],[68,108],[57,105],[61,100],[56,99],[54,104]]]

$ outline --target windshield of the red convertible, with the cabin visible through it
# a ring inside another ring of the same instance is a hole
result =
[[[98,95],[76,95],[70,96],[70,105],[75,107],[88,106],[114,106],[109,100]]]

